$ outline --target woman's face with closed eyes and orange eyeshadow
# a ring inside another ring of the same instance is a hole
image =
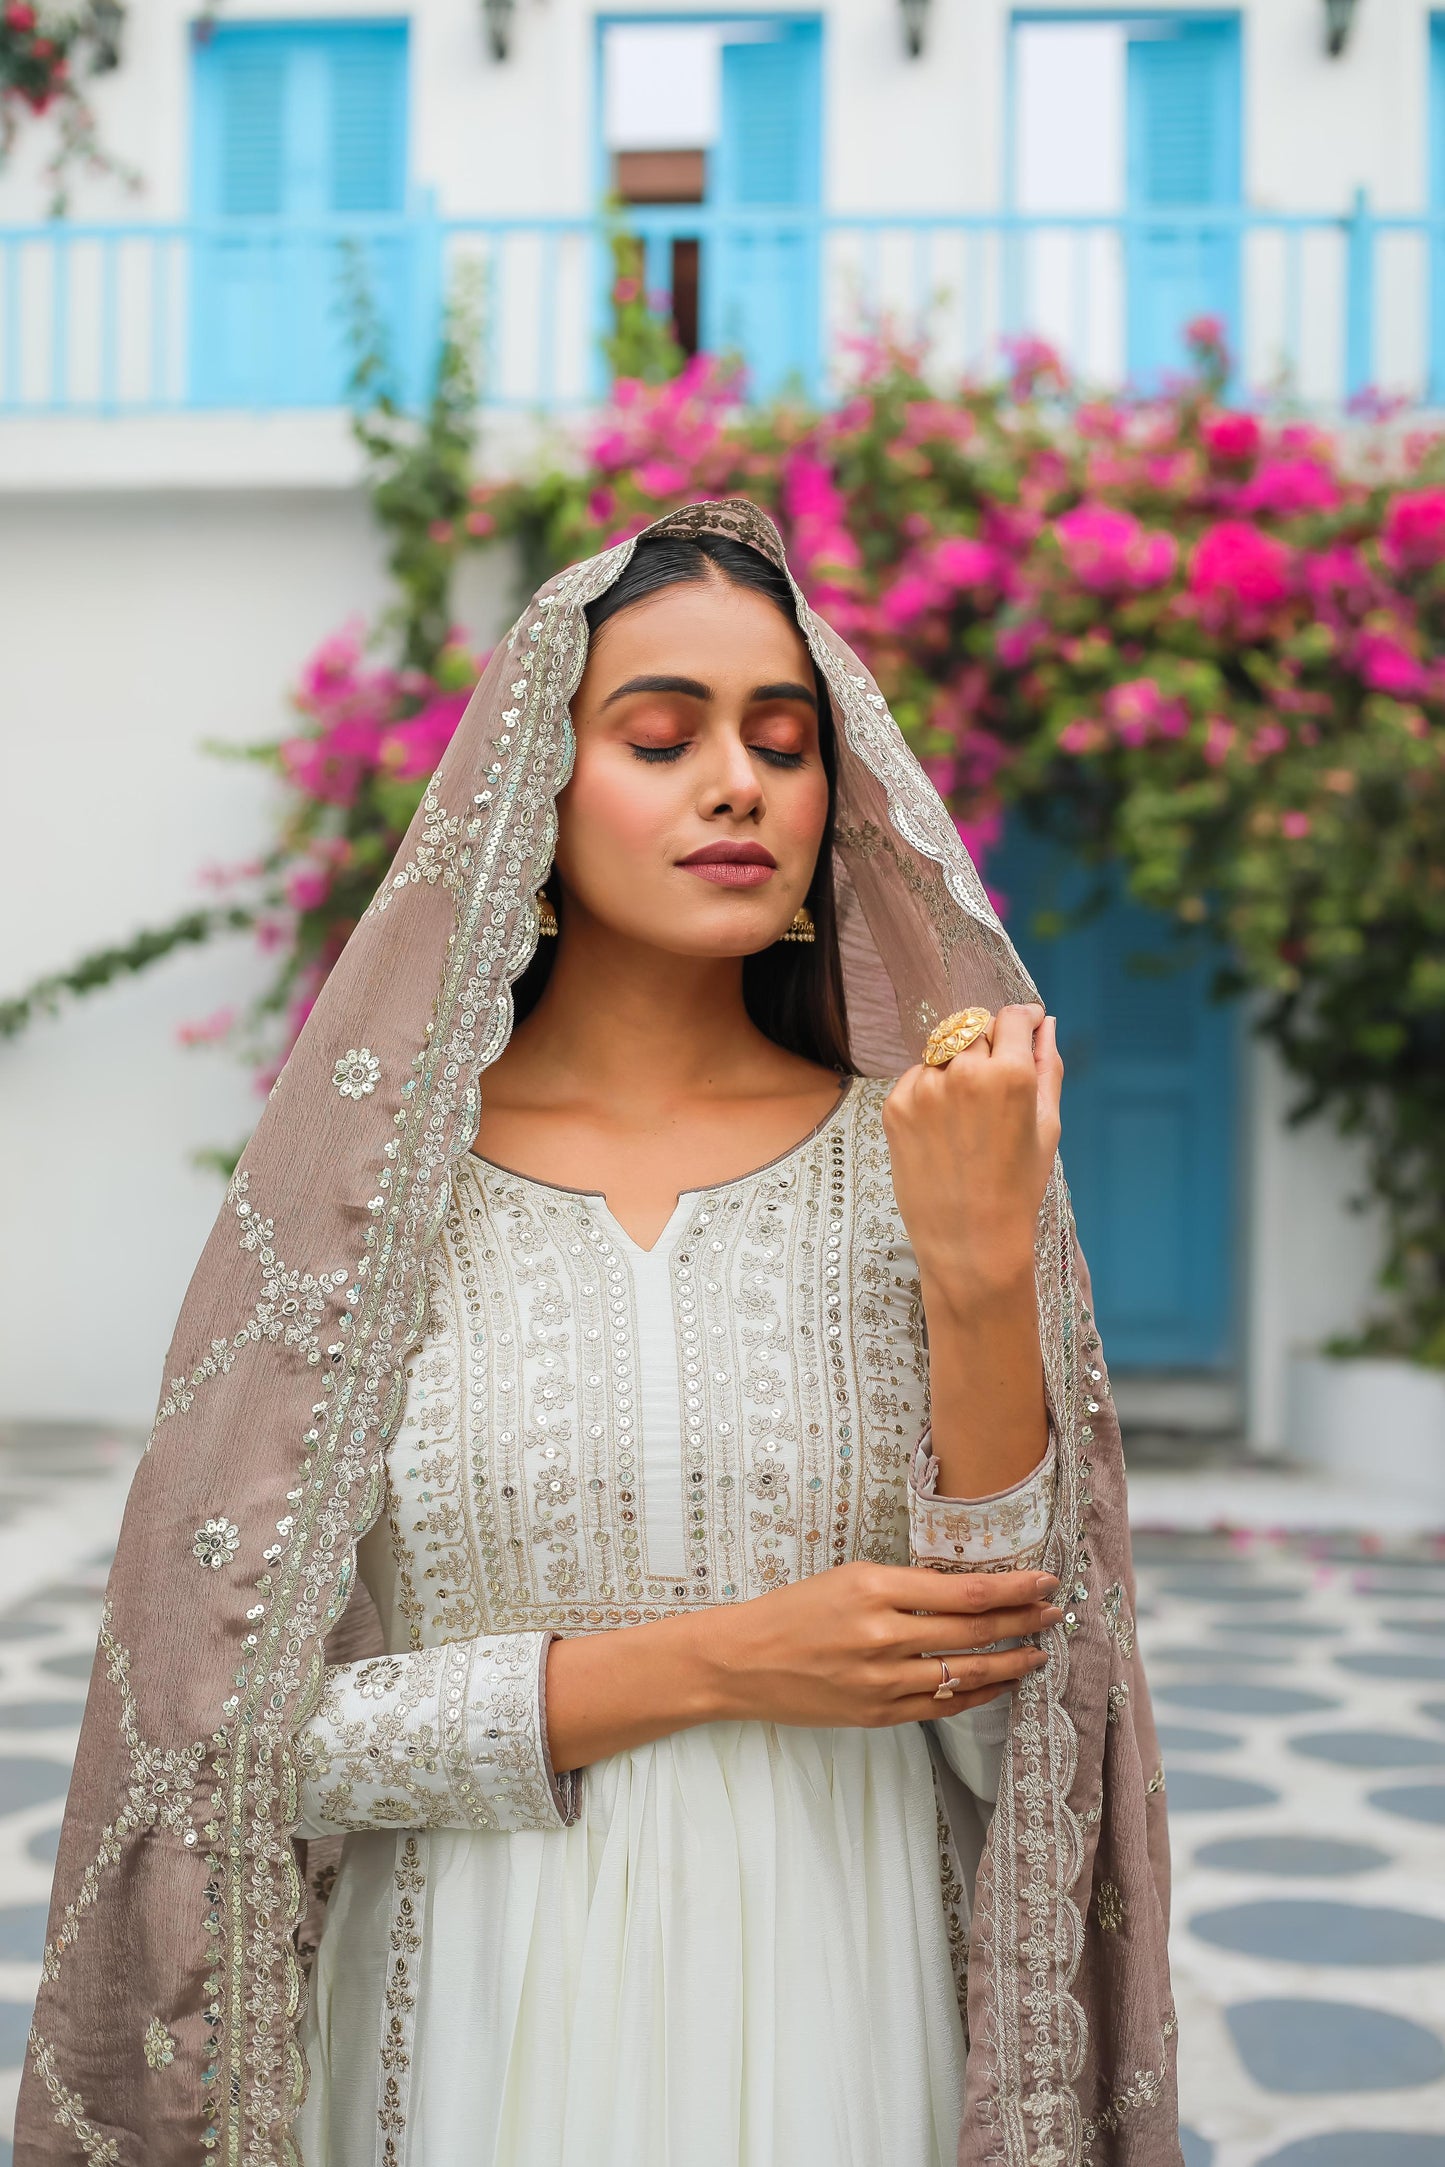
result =
[[[808,893],[828,776],[808,648],[724,579],[663,587],[598,631],[559,797],[563,917],[678,956],[752,956]]]

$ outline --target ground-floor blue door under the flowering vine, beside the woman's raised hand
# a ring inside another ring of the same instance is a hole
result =
[[[1075,932],[1049,925],[1094,875],[1023,830],[988,862],[1007,925],[1064,1053],[1064,1168],[1116,1370],[1233,1361],[1237,1014],[1209,966],[1170,969],[1168,923],[1111,901]]]

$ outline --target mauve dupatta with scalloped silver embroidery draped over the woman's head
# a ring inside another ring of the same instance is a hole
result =
[[[741,501],[650,533],[732,535],[784,563]],[[537,940],[583,611],[630,550],[548,581],[492,654],[191,1281],[106,1595],[19,2167],[297,2160],[303,1864],[312,1892],[327,1874],[290,1833],[292,1740],[325,1662],[379,1647],[355,1545],[422,1333],[425,1255]],[[897,1075],[940,1016],[1033,984],[873,678],[802,594],[797,618],[836,724],[851,1053]],[[1118,1424],[1057,1168],[1038,1298],[1066,1623],[1018,1688],[977,1874],[960,2167],[1176,2167],[1163,1773]]]

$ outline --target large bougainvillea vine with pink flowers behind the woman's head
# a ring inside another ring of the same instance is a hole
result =
[[[422,429],[386,498],[394,563],[427,566],[399,661],[336,635],[266,752],[286,815],[234,888],[277,958],[236,1027],[269,1036],[262,1081],[481,665],[444,607],[459,557],[509,544],[531,589],[674,505],[745,494],[984,865],[1016,810],[1254,995],[1300,1112],[1369,1146],[1391,1300],[1361,1344],[1445,1365],[1445,451],[1378,433],[1345,457],[1226,401],[1215,325],[1192,342],[1189,381],[1127,401],[1072,392],[1040,340],[1001,381],[940,384],[880,336],[825,412],[760,412],[734,364],[678,355],[526,479],[461,462],[453,412],[433,490]]]

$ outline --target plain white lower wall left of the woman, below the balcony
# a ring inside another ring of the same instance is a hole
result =
[[[496,563],[461,615],[496,633]],[[197,871],[269,839],[271,784],[206,737],[286,726],[318,639],[386,594],[355,494],[0,498],[0,986],[201,901]],[[188,951],[0,1047],[0,1409],[149,1422],[219,1181],[260,1101],[175,1027],[245,1001],[245,938]]]

